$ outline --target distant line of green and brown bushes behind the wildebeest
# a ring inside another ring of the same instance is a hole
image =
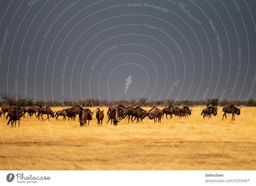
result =
[[[62,107],[71,107],[75,105],[82,105],[84,107],[92,107],[92,106],[111,106],[111,105],[124,105],[124,106],[166,106],[168,107],[169,105],[188,105],[188,106],[208,106],[210,104],[212,105],[218,105],[218,106],[227,106],[227,105],[237,105],[237,106],[256,106],[256,100],[253,98],[247,99],[246,101],[240,101],[240,100],[219,100],[219,99],[206,99],[206,100],[200,100],[200,101],[195,101],[195,100],[180,100],[180,101],[175,101],[174,99],[168,99],[166,100],[148,100],[146,97],[140,97],[138,99],[136,98],[131,98],[131,99],[120,99],[120,100],[105,100],[99,98],[88,98],[85,100],[81,99],[73,99],[70,100],[68,98],[63,99],[62,102],[56,101],[56,100],[48,100],[45,101],[43,99],[39,100],[37,99],[36,101],[34,98],[30,97],[25,97],[23,98],[22,95],[12,95],[7,92],[1,92],[0,93],[0,107],[4,105],[20,105],[20,106],[27,106],[27,105],[33,105],[33,104],[38,104],[42,106],[62,106]]]

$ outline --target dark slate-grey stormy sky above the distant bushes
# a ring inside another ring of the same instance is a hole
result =
[[[0,3],[1,91],[16,82],[23,97],[59,101],[255,98],[255,1],[10,2]]]

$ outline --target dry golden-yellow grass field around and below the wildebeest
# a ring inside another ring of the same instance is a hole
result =
[[[122,120],[117,127],[106,124],[107,108],[102,127],[95,114],[87,128],[78,117],[38,122],[33,116],[11,129],[2,116],[0,170],[256,170],[256,108],[243,107],[235,121],[231,114],[222,120],[220,107],[203,120],[203,108],[193,107],[187,119]]]

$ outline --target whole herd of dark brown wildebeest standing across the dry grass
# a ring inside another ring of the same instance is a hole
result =
[[[222,112],[224,112],[222,119],[224,118],[224,116],[227,119],[227,113],[228,114],[232,114],[232,120],[235,120],[235,114],[240,115],[240,108],[236,107],[235,105],[230,105],[230,106],[225,106],[222,109]],[[203,115],[203,118],[205,116],[209,116],[208,120],[212,119],[212,115],[216,116],[217,115],[217,111],[218,111],[218,107],[214,106],[214,105],[209,105],[207,108],[203,109],[201,115]],[[44,114],[47,115],[46,120],[50,119],[50,117],[52,118],[56,118],[56,121],[58,119],[59,116],[63,116],[63,120],[66,120],[66,116],[68,117],[68,120],[75,120],[76,119],[76,115],[79,116],[79,122],[80,122],[80,127],[87,127],[87,120],[88,120],[88,126],[89,126],[89,122],[90,120],[92,120],[92,115],[94,112],[96,112],[96,119],[97,119],[97,123],[98,126],[102,126],[102,121],[104,119],[104,110],[102,109],[102,111],[100,110],[100,108],[97,108],[96,111],[91,111],[88,108],[83,108],[81,106],[75,106],[75,107],[71,107],[71,108],[67,108],[67,109],[63,109],[60,111],[52,111],[50,107],[42,107],[41,105],[30,105],[30,106],[24,106],[23,108],[21,108],[20,106],[17,105],[9,105],[9,106],[3,106],[2,110],[0,112],[0,117],[2,117],[2,114],[8,113],[6,116],[6,120],[9,117],[8,123],[7,125],[10,124],[11,122],[11,128],[13,128],[13,123],[15,121],[15,127],[16,127],[16,121],[19,122],[19,127],[20,127],[20,118],[24,117],[25,118],[25,113],[28,113],[29,117],[31,117],[33,114],[36,115],[36,118],[38,118],[38,120],[40,120],[40,116],[42,118],[42,120],[44,120],[44,118],[42,117]],[[149,111],[144,110],[140,107],[132,107],[132,106],[128,106],[125,107],[123,105],[117,105],[117,106],[110,106],[108,108],[108,112],[107,112],[107,117],[108,117],[108,121],[111,121],[111,125],[113,122],[114,126],[117,126],[117,123],[120,122],[122,119],[128,119],[128,123],[131,119],[131,122],[133,123],[134,120],[136,120],[136,123],[138,122],[142,122],[142,120],[146,117],[148,117],[150,120],[154,120],[154,123],[158,122],[161,123],[161,119],[164,118],[164,114],[166,119],[167,115],[170,115],[170,119],[172,119],[172,115],[174,114],[174,116],[178,116],[178,117],[188,117],[188,115],[191,115],[192,109],[190,110],[190,108],[187,105],[184,106],[168,106],[165,107],[163,109],[158,109],[155,106],[153,106],[153,108],[151,108]],[[55,113],[55,115],[54,115]],[[27,115],[27,117],[28,117]],[[50,115],[50,117],[49,117]],[[5,115],[4,115],[5,117]],[[158,121],[157,121],[158,119]]]

